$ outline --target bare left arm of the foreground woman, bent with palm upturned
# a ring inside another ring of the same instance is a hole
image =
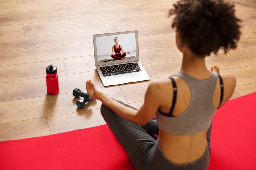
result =
[[[148,86],[144,104],[140,110],[134,110],[130,107],[124,106],[118,101],[110,98],[107,94],[100,92],[95,88],[95,85],[91,80],[86,81],[86,89],[89,96],[102,101],[104,105],[113,110],[116,114],[124,117],[125,119],[132,121],[136,124],[145,125],[156,114],[159,108],[160,97],[157,93],[156,83],[150,83]]]

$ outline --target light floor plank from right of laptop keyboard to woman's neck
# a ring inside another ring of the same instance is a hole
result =
[[[173,73],[180,71],[182,60],[167,61],[162,63],[151,63],[150,65],[155,70],[157,76],[168,78]]]

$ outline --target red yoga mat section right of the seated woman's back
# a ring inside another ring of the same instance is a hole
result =
[[[256,93],[229,100],[213,117],[208,170],[256,169]]]

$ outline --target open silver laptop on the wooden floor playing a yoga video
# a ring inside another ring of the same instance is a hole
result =
[[[93,35],[93,45],[95,66],[104,86],[150,79],[139,61],[138,31]]]

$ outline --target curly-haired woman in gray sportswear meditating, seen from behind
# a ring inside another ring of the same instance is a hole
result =
[[[216,66],[208,70],[205,57],[236,48],[241,32],[234,12],[234,5],[223,0],[174,4],[170,15],[175,15],[172,28],[183,54],[181,68],[151,81],[139,110],[86,82],[89,96],[102,101],[101,115],[135,169],[207,169],[212,117],[232,96],[236,78],[219,74]]]

